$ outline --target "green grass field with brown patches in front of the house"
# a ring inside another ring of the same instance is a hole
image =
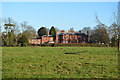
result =
[[[115,48],[3,47],[2,59],[3,78],[118,78]]]

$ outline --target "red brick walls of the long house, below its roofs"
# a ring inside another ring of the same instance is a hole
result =
[[[76,36],[76,35],[61,35],[60,39],[58,38],[60,35],[56,35],[56,37],[45,37],[42,36],[41,39],[30,39],[29,43],[32,44],[40,44],[40,43],[47,43],[49,41],[54,41],[54,43],[87,43],[88,37],[87,36]]]

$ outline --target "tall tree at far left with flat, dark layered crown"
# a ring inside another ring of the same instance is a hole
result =
[[[16,35],[14,34],[16,25],[14,24],[14,21],[11,18],[8,18],[5,20],[4,26],[5,34],[2,36],[2,38],[5,45],[16,46]]]

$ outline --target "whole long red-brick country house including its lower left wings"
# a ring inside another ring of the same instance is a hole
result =
[[[61,30],[60,33],[56,35],[44,35],[40,38],[31,38],[29,43],[88,43],[88,35],[81,33],[81,31],[74,32],[73,30],[69,30],[65,32]]]

